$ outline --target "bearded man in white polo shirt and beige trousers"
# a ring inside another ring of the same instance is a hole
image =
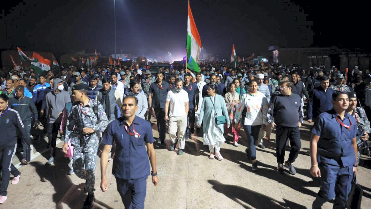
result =
[[[170,114],[169,112],[170,105]],[[174,87],[168,91],[165,103],[165,120],[169,121],[169,136],[171,139],[170,151],[174,151],[175,139],[178,141],[178,155],[182,155],[185,145],[185,131],[187,130],[187,115],[189,100],[187,91],[183,90],[183,80],[177,78]]]

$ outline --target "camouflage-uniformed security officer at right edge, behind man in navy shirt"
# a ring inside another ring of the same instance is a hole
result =
[[[369,133],[371,133],[370,122],[367,119],[365,110],[362,107],[357,107],[357,95],[354,92],[348,93],[349,97],[349,107],[347,112],[351,114],[356,122],[357,122],[357,129],[358,134],[357,144],[361,143],[362,141],[367,141],[369,138]],[[358,149],[358,156],[357,156],[357,164],[359,163],[359,156],[361,155],[359,152],[362,150]]]

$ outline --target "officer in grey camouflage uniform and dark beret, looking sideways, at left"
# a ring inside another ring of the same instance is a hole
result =
[[[63,152],[67,153],[68,140],[73,145],[73,170],[76,176],[86,179],[85,192],[88,197],[83,208],[92,208],[95,184],[95,164],[98,152],[98,133],[104,132],[108,125],[108,118],[103,105],[96,100],[89,99],[86,91],[89,86],[76,84],[72,89],[75,103],[67,118],[65,144]]]

